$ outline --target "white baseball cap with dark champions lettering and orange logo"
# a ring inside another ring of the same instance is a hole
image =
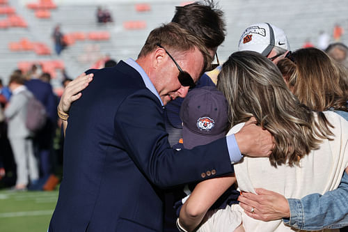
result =
[[[239,39],[238,51],[254,51],[267,56],[273,47],[290,50],[284,31],[267,22],[248,26]]]

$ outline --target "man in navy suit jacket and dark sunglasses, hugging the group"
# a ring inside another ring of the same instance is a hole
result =
[[[241,153],[271,153],[271,135],[253,123],[192,150],[170,147],[164,105],[210,62],[201,40],[170,23],[151,31],[136,61],[87,72],[95,78],[70,109],[50,232],[162,231],[164,188],[232,173]]]

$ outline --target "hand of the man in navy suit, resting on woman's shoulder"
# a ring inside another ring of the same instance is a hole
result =
[[[274,148],[274,138],[268,130],[256,125],[255,118],[247,121],[235,134],[239,150],[243,155],[269,157]]]

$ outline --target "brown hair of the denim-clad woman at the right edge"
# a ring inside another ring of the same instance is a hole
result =
[[[348,111],[347,70],[314,47],[298,49],[277,66],[300,102],[315,111]]]

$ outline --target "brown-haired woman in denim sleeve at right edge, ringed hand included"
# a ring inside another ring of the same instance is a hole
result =
[[[348,120],[348,74],[340,63],[312,47],[288,52],[277,66],[301,103],[315,111],[334,111]],[[285,199],[269,190],[255,191],[257,195],[246,193],[239,197],[239,206],[254,219],[283,219],[293,228],[308,230],[348,226],[348,169],[338,189],[325,194]],[[253,207],[258,210],[251,214]]]

